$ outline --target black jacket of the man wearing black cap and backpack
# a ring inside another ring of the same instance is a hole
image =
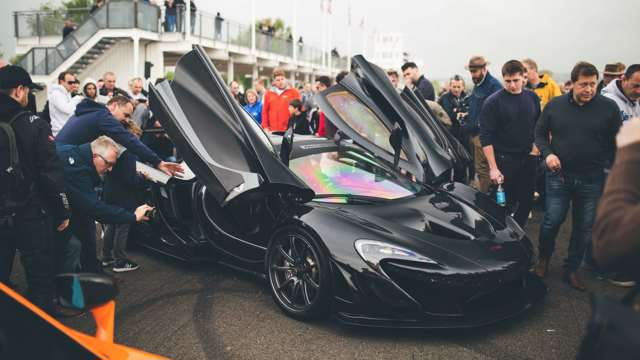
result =
[[[0,93],[0,121],[9,121],[21,111],[25,111],[13,122],[18,154],[24,175],[24,193],[28,198],[24,211],[19,216],[40,216],[42,210],[51,212],[56,224],[69,218],[69,203],[65,191],[62,171],[53,144],[51,127],[30,111],[20,107],[11,97]],[[8,138],[0,131],[0,156],[5,162],[9,154]],[[5,188],[0,184],[0,189]],[[29,190],[30,189],[30,190]]]

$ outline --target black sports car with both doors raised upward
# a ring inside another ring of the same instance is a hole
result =
[[[532,246],[467,185],[468,154],[412,92],[363,57],[317,95],[332,139],[267,135],[195,48],[150,105],[195,177],[150,187],[143,245],[263,275],[289,316],[472,327],[530,308],[546,287]]]

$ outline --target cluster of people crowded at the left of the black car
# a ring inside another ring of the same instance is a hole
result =
[[[46,311],[55,310],[55,274],[138,268],[126,254],[129,230],[153,208],[140,198],[136,161],[168,175],[183,171],[166,134],[143,133],[160,127],[144,81],[128,85],[118,88],[116,74],[106,72],[80,86],[65,71],[35,113],[30,95],[41,87],[18,66],[0,69],[0,281],[9,283],[19,250],[28,297]]]

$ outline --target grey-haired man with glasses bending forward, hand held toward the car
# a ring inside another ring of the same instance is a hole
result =
[[[57,146],[60,165],[63,168],[65,185],[71,205],[71,221],[67,231],[58,236],[55,243],[56,267],[59,272],[75,271],[65,268],[74,264],[74,259],[64,259],[71,235],[82,244],[80,264],[83,271],[101,272],[96,259],[95,221],[105,224],[133,224],[148,220],[146,213],[153,208],[143,204],[135,212],[108,205],[98,198],[95,188],[100,185],[101,176],[111,171],[118,159],[119,147],[107,136],[100,136],[83,145]]]

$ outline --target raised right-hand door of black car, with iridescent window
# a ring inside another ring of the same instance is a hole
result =
[[[435,120],[418,114],[391,86],[385,72],[363,56],[353,57],[351,73],[315,99],[340,131],[388,163],[394,163],[388,134],[400,129],[399,167],[419,181],[431,182],[453,168],[453,155],[438,144],[439,134],[424,124]]]

